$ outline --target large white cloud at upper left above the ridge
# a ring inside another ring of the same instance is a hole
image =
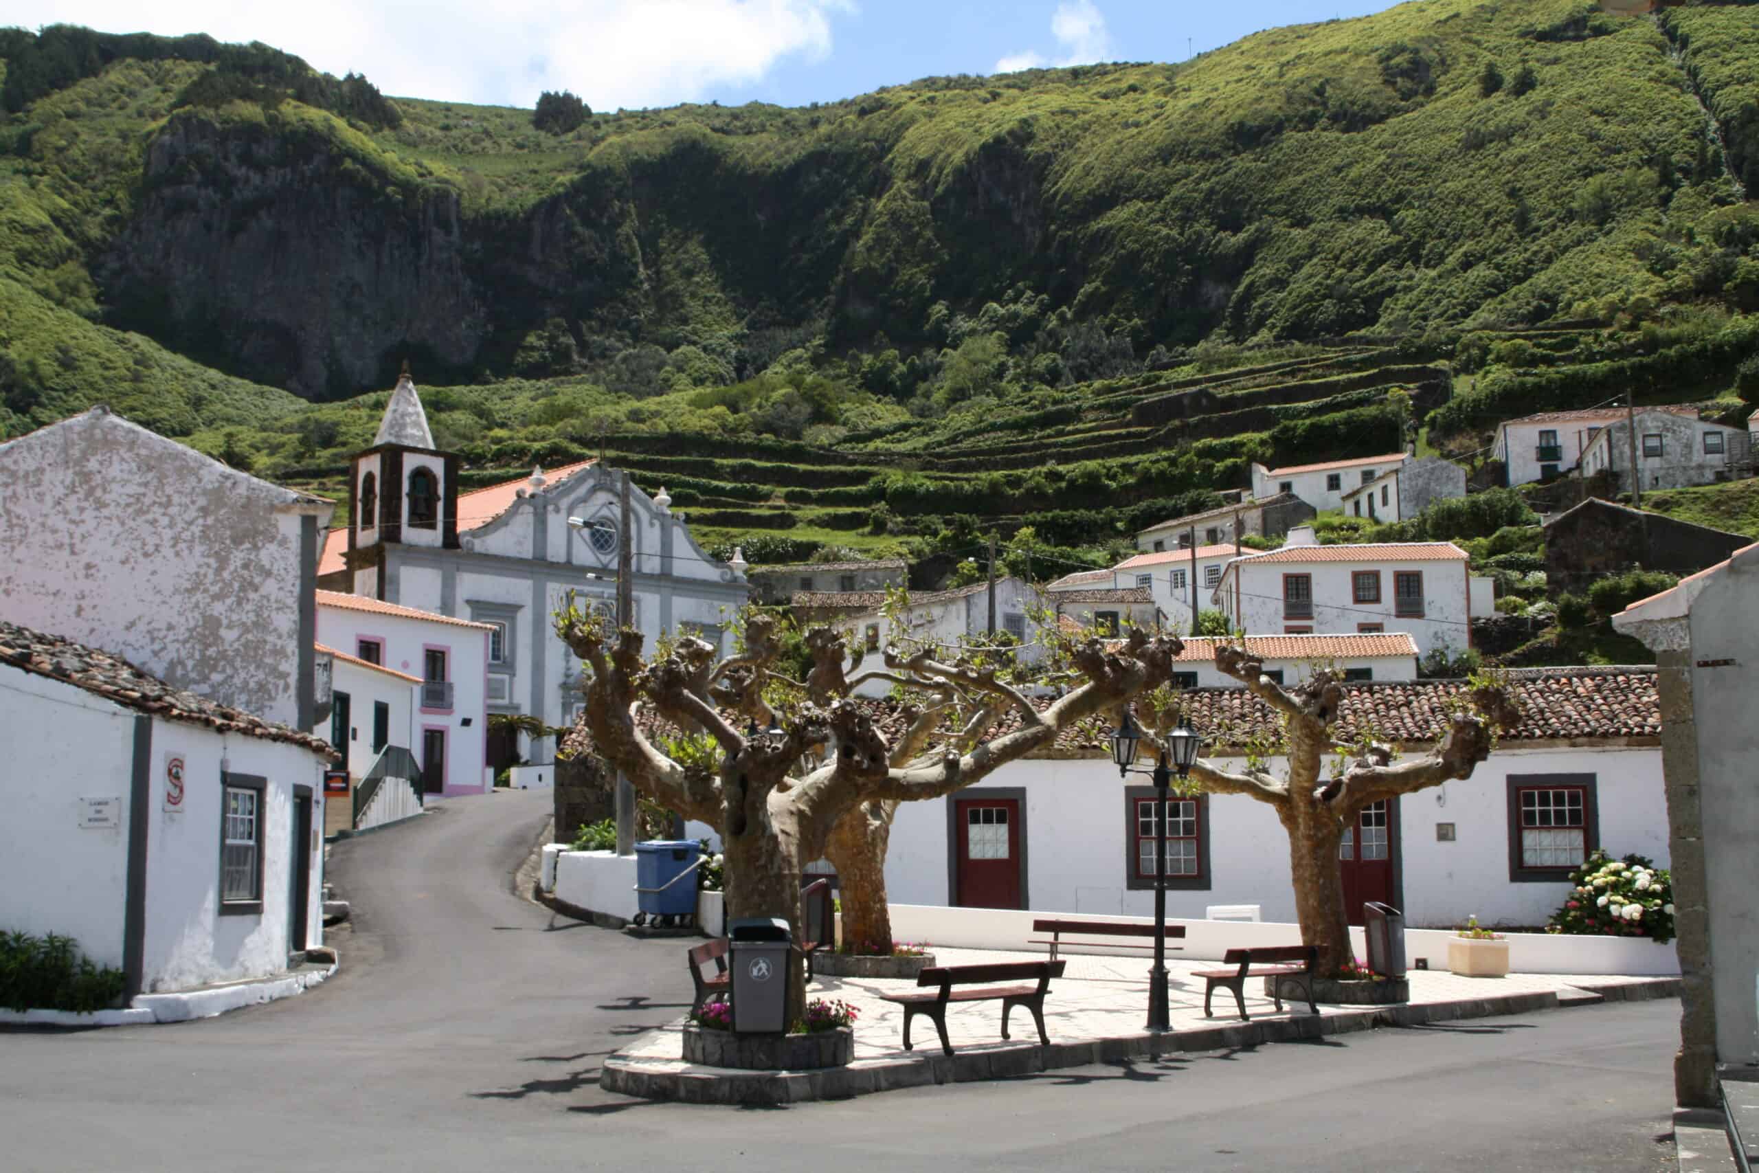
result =
[[[670,106],[763,79],[783,58],[821,60],[855,0],[44,0],[42,25],[206,32],[262,40],[317,69],[366,74],[390,95],[531,106],[573,90],[593,109]],[[146,18],[146,19],[142,19]]]

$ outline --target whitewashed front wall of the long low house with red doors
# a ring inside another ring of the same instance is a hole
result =
[[[1270,769],[1281,774],[1284,761],[1274,760]],[[1509,774],[1595,774],[1601,844],[1615,855],[1636,851],[1668,865],[1659,749],[1500,749],[1472,779],[1398,804],[1404,913],[1412,927],[1453,925],[1471,914],[1485,923],[1543,925],[1562,904],[1564,883],[1509,881]],[[1015,761],[955,798],[980,797],[985,788],[1025,790],[1031,909],[1152,913],[1152,892],[1126,888],[1126,797],[1115,765]],[[899,807],[887,856],[892,902],[948,902],[946,802]],[[1272,809],[1244,795],[1212,795],[1208,811],[1210,886],[1168,892],[1168,914],[1201,918],[1210,904],[1258,904],[1266,922],[1293,922],[1288,835]],[[1455,842],[1437,842],[1435,825],[1444,821],[1455,825]]]

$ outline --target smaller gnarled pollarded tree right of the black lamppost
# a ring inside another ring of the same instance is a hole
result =
[[[1270,707],[1281,735],[1266,737],[1251,728],[1200,730],[1212,742],[1237,742],[1233,749],[1240,751],[1245,767],[1228,770],[1214,760],[1198,758],[1191,767],[1191,783],[1196,790],[1247,795],[1275,809],[1289,835],[1289,879],[1302,943],[1319,950],[1319,973],[1335,978],[1353,957],[1339,869],[1344,832],[1376,802],[1471,777],[1478,763],[1490,756],[1497,728],[1511,728],[1518,710],[1502,682],[1488,677],[1471,681],[1435,746],[1420,756],[1397,760],[1397,747],[1379,740],[1372,726],[1353,728],[1354,740],[1339,739],[1346,700],[1340,674],[1317,670],[1302,684],[1284,688],[1265,675],[1261,658],[1228,644],[1215,649],[1215,667]],[[1161,735],[1184,712],[1177,693],[1168,691],[1143,698],[1138,710],[1145,712],[1149,733],[1143,749],[1150,753],[1159,749]],[[1272,756],[1286,756],[1282,777],[1263,767]]]

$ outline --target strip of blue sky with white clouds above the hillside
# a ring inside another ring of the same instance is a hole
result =
[[[675,102],[804,106],[931,74],[1179,62],[1376,0],[40,0],[12,19],[264,40],[385,93],[593,109]]]

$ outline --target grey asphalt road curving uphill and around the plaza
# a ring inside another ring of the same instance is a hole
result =
[[[677,943],[512,893],[547,795],[338,844],[355,925],[301,997],[0,1034],[0,1171],[1361,1169],[1660,1173],[1678,1002],[1376,1031],[776,1110],[609,1096],[681,1013]]]

